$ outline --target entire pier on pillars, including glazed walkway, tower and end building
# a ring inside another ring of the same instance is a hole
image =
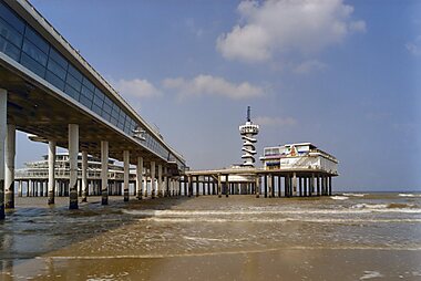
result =
[[[25,0],[0,0],[0,219],[14,196],[144,197],[331,195],[337,159],[310,143],[265,148],[255,167],[259,126],[250,108],[239,126],[244,160],[189,170],[184,157]],[[45,144],[43,160],[16,170],[16,132]],[[68,150],[58,155],[57,148]],[[275,152],[275,153],[274,153]],[[114,165],[122,162],[122,166]],[[131,167],[135,169],[131,170]],[[16,190],[16,183],[18,190]]]

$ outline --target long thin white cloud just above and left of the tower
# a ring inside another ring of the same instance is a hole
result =
[[[251,85],[248,82],[235,84],[223,77],[212,75],[197,75],[192,80],[183,77],[166,79],[163,81],[165,89],[175,90],[179,97],[218,95],[233,100],[258,97],[264,94],[259,86]]]

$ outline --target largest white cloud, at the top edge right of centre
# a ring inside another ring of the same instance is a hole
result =
[[[228,60],[264,62],[276,53],[312,53],[364,32],[342,0],[267,0],[239,3],[239,24],[218,37],[216,49]]]

